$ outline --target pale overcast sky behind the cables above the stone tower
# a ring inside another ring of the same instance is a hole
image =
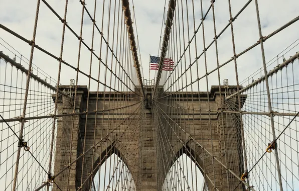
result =
[[[20,34],[21,36],[25,37],[28,40],[32,39],[33,35],[33,26],[36,14],[36,2],[37,1],[21,1],[21,0],[0,0],[0,23],[9,29],[13,30],[14,32]],[[101,15],[102,15],[102,0],[97,1],[97,14],[96,14],[96,21],[97,25],[101,26]],[[105,1],[105,11],[104,11],[104,36],[107,38],[107,16],[108,16],[108,1]],[[112,1],[112,5],[114,1]],[[184,2],[184,1],[183,1]],[[247,1],[240,1],[240,0],[232,0],[232,16],[234,17],[241,7],[245,5]],[[64,14],[64,6],[65,1],[63,0],[48,0],[48,3],[53,7],[57,13],[63,17]],[[87,4],[86,7],[93,15],[94,9],[94,1],[87,0],[85,1]],[[200,10],[200,1],[195,0],[195,26],[196,28],[199,26],[201,20],[201,10]],[[287,22],[291,21],[295,17],[298,16],[298,7],[299,1],[297,0],[259,0],[259,12],[260,12],[260,19],[261,19],[261,27],[262,27],[262,34],[263,36],[267,36],[282,25],[286,24]],[[148,79],[148,66],[149,66],[149,54],[151,55],[160,55],[159,52],[159,43],[160,43],[160,36],[161,36],[161,28],[164,31],[165,26],[162,25],[163,21],[163,13],[164,13],[164,5],[165,1],[162,0],[152,0],[152,1],[144,1],[144,0],[135,0],[134,1],[134,9],[135,9],[135,16],[136,16],[136,24],[137,29],[134,25],[134,33],[136,38],[136,31],[138,32],[138,39],[139,39],[139,50],[141,52],[141,63],[143,68],[143,75],[145,79]],[[168,1],[167,1],[168,5]],[[210,0],[203,1],[203,13],[205,14],[208,10],[210,5]],[[132,12],[132,2],[130,1],[130,8]],[[166,7],[167,10],[168,6]],[[193,14],[192,14],[192,1],[188,1],[188,9],[189,9],[189,22],[190,22],[190,35],[193,35]],[[224,0],[217,0],[215,2],[215,17],[216,17],[216,28],[217,34],[227,25],[229,20],[229,9],[228,9],[228,1]],[[68,14],[67,14],[67,22],[70,27],[77,33],[80,33],[80,23],[81,23],[81,12],[82,12],[82,5],[77,0],[69,0],[68,5]],[[186,13],[185,13],[186,14]],[[185,15],[186,16],[186,15]],[[214,37],[214,29],[213,29],[213,15],[210,12],[205,20],[205,41],[206,46],[209,45]],[[234,35],[235,35],[235,46],[236,46],[236,53],[240,53],[244,51],[249,46],[253,45],[256,41],[259,40],[257,22],[256,22],[256,11],[255,11],[255,4],[254,1],[250,3],[250,5],[244,10],[244,12],[235,20],[233,23],[234,26]],[[120,22],[119,22],[120,23]],[[86,17],[86,13],[84,14],[83,20],[83,39],[91,46],[91,30],[92,30],[92,22],[88,17]],[[186,23],[185,23],[185,29]],[[110,35],[112,34],[110,30]],[[283,31],[279,32],[278,34],[274,35],[270,39],[268,39],[264,43],[265,47],[265,58],[266,62],[270,61],[273,57],[277,56],[281,51],[287,48],[290,44],[295,42],[289,49],[293,48],[297,43],[297,39],[299,38],[299,22],[292,24],[290,27],[284,29]],[[60,44],[61,44],[61,36],[62,36],[62,23],[57,19],[57,17],[45,6],[44,3],[41,3],[40,13],[39,13],[39,21],[38,21],[38,30],[37,30],[37,37],[36,37],[36,44],[40,47],[44,48],[45,50],[49,51],[50,53],[54,54],[55,56],[59,57],[60,54]],[[163,34],[162,34],[163,36]],[[3,51],[5,54],[10,55],[13,57],[13,54],[17,54],[15,50],[8,47],[4,41],[9,43],[12,47],[14,47],[18,52],[20,52],[23,56],[29,58],[30,57],[30,46],[19,40],[18,38],[14,37],[13,35],[9,34],[8,32],[0,29],[0,51]],[[110,37],[111,38],[111,37]],[[187,39],[187,37],[185,36]],[[185,45],[187,45],[188,40],[185,39]],[[4,40],[4,41],[3,41]],[[136,39],[137,40],[137,39]],[[180,38],[181,42],[183,42],[183,38],[181,35]],[[95,34],[95,45],[94,50],[98,54],[99,53],[99,42],[100,42],[100,35],[97,33]],[[109,41],[110,45],[111,43]],[[65,44],[64,44],[64,53],[63,53],[63,60],[67,61],[72,66],[77,66],[78,60],[78,44],[79,41],[73,34],[70,33],[68,29],[66,29],[66,37],[65,37]],[[4,46],[3,46],[4,45]],[[114,45],[116,43],[114,42]],[[203,35],[202,30],[200,29],[197,33],[197,48],[198,54],[200,54],[203,50]],[[13,53],[9,52],[5,47],[9,48]],[[105,46],[104,46],[105,47]],[[195,60],[195,44],[194,41],[191,44],[191,63]],[[102,56],[105,59],[105,51],[102,52]],[[219,51],[219,64],[222,64],[233,57],[232,51],[232,40],[231,40],[231,31],[230,27],[221,35],[218,39],[218,51]],[[284,54],[284,51],[282,54]],[[292,50],[288,53],[285,53],[285,57],[289,57],[295,54],[296,51],[299,51],[298,46],[295,46]],[[108,52],[108,57],[111,53]],[[174,55],[174,60],[177,61],[177,57],[179,55]],[[189,55],[188,55],[189,56]],[[281,56],[281,54],[279,55]],[[107,58],[109,65],[109,59]],[[18,59],[17,59],[18,62]],[[36,66],[40,69],[45,71],[45,74],[40,73],[41,78],[46,78],[51,76],[55,80],[57,80],[57,73],[58,73],[58,61],[49,57],[45,53],[35,49],[34,52],[34,59],[33,62]],[[90,52],[86,49],[86,47],[82,47],[81,50],[81,58],[80,58],[80,69],[86,73],[89,72],[89,62],[90,62]],[[282,59],[278,61],[281,63]],[[97,78],[98,67],[96,64],[98,61],[93,59],[93,70],[92,76]],[[199,75],[202,76],[206,73],[205,60],[202,56],[199,59]],[[132,64],[132,63],[131,63]],[[185,64],[187,67],[190,65],[189,59],[185,62],[180,62],[183,66],[183,71],[185,68]],[[273,68],[277,64],[276,61],[269,66],[268,69]],[[27,68],[27,65],[23,63],[23,65]],[[243,79],[246,79],[250,76],[253,72],[258,70],[262,67],[262,59],[261,59],[261,51],[260,46],[257,46],[250,50],[248,53],[240,56],[237,59],[238,65],[238,73],[239,73],[239,81],[241,82]],[[111,65],[109,65],[111,66]],[[216,56],[215,56],[215,46],[212,45],[211,48],[207,51],[207,67],[208,71],[214,69],[216,67]],[[35,66],[34,66],[35,67]],[[101,73],[104,70],[101,70]],[[34,69],[36,72],[36,69]],[[221,72],[221,80],[228,78],[230,84],[236,83],[235,78],[235,70],[234,70],[234,63],[230,62],[226,66],[220,69]],[[179,72],[180,73],[180,72]],[[184,81],[183,84],[187,84],[191,81],[194,81],[196,76],[197,70],[196,65],[192,67],[192,78],[189,76],[187,82]],[[152,79],[154,78],[154,72],[151,74]],[[260,74],[254,76],[254,79],[260,77]],[[296,76],[298,77],[298,76]],[[76,78],[76,71],[70,69],[69,67],[62,66],[62,75],[61,75],[61,84],[69,84],[69,79]],[[13,79],[14,80],[14,79]],[[101,77],[103,80],[103,77]],[[185,78],[184,78],[185,80]],[[201,86],[202,90],[205,90],[203,79],[203,86]],[[0,79],[1,81],[1,79]],[[48,80],[49,81],[49,80]],[[251,79],[250,79],[251,81]],[[163,82],[163,80],[162,80]],[[107,82],[108,85],[111,85],[112,82]],[[52,83],[55,85],[55,82]],[[88,78],[86,76],[79,76],[78,84],[80,85],[87,85]],[[247,83],[245,83],[247,84]],[[217,73],[214,72],[209,76],[209,86],[210,85],[218,85],[218,78]],[[209,87],[208,87],[209,88]],[[91,84],[91,90],[96,90],[96,83]],[[190,90],[190,89],[188,89]]]

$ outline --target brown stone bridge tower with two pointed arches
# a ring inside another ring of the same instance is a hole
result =
[[[229,86],[229,89],[235,88],[236,86]],[[60,89],[69,93],[74,91],[74,88],[70,88],[69,85],[60,86]],[[163,91],[162,87],[160,89]],[[220,94],[219,86],[212,86],[208,92],[209,97],[207,92],[184,92],[165,99],[172,100],[177,108],[183,107],[180,104],[184,102],[185,108],[188,108],[188,104],[191,104],[188,102],[188,99],[190,100],[192,97],[195,100],[195,98],[200,97],[200,101],[193,102],[194,108],[199,108],[199,104],[201,104],[203,110],[208,110],[207,103],[209,99],[210,110],[221,111],[225,109],[224,86],[221,86],[221,89],[222,93]],[[180,116],[172,116],[171,111],[165,108],[163,104],[155,106],[152,103],[151,86],[146,86],[145,92],[146,99],[144,100],[133,98],[132,92],[89,92],[89,113],[87,112],[88,114],[86,114],[88,89],[87,86],[77,86],[75,112],[82,113],[82,115],[58,118],[54,174],[65,168],[69,161],[75,162],[71,164],[70,169],[55,177],[57,182],[68,184],[69,190],[73,191],[80,187],[82,176],[83,182],[85,179],[88,179],[82,186],[82,190],[89,190],[90,180],[97,172],[99,166],[114,153],[121,158],[130,170],[136,190],[161,190],[162,185],[157,183],[158,176],[166,177],[167,175],[159,168],[161,161],[173,161],[174,157],[178,158],[184,153],[189,153],[196,159],[195,163],[201,172],[207,175],[205,178],[209,190],[214,190],[214,186],[210,183],[211,180],[208,180],[208,177],[216,177],[215,185],[219,190],[227,190],[227,178],[229,178],[230,184],[237,185],[239,183],[238,179],[227,175],[227,169],[222,165],[217,162],[213,164],[212,157],[198,146],[198,144],[203,145],[209,152],[213,150],[212,154],[214,156],[221,160],[223,164],[227,160],[229,168],[234,172],[239,172],[237,175],[241,176],[241,173],[244,171],[243,152],[242,147],[239,146],[241,143],[238,142],[241,140],[240,127],[234,124],[235,120],[224,115],[223,124],[219,112],[200,113],[199,111],[194,111],[193,116],[195,117],[190,119],[188,116],[190,116],[191,111],[184,109],[181,110]],[[123,102],[125,94],[130,94],[131,97],[127,97],[126,101]],[[53,95],[53,99],[55,100],[55,95]],[[113,105],[111,102],[108,102],[108,99],[110,101],[113,100]],[[60,98],[59,114],[72,113],[73,103],[74,101],[68,98]],[[173,158],[157,157],[157,152],[160,152],[160,150],[156,139],[163,137],[159,135],[159,130],[157,129],[158,125],[156,123],[158,122],[155,120],[154,107],[161,107],[162,110],[173,118],[173,121],[178,123],[179,126],[184,126],[186,130],[188,130],[189,126],[194,126],[194,131],[187,132],[194,137],[194,140],[188,139],[188,137],[182,134],[178,134],[180,136],[179,139],[171,140],[172,147],[176,153],[172,156]],[[111,110],[113,108],[121,109],[117,111]],[[95,112],[99,110],[100,112]],[[235,115],[234,118],[239,118],[239,115]],[[180,119],[188,120],[184,120],[183,123]],[[234,128],[230,128],[228,132],[226,131],[227,126]],[[118,128],[116,131],[113,131],[115,127]],[[121,141],[119,141],[120,139]],[[229,146],[225,145],[224,140],[230,140]],[[129,147],[128,141],[130,141]],[[82,153],[84,153],[84,142],[85,154],[82,156]],[[72,145],[71,151],[70,145]],[[190,152],[186,152],[187,149]],[[226,158],[228,155],[230,156],[229,161]],[[78,159],[78,157],[80,158]],[[83,157],[85,157],[86,162],[82,168]],[[171,165],[169,168],[171,168]],[[68,173],[70,173],[70,176],[68,176]],[[56,191],[58,189],[54,186],[53,190]]]

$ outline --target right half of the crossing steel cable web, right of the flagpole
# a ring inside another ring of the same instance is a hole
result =
[[[283,62],[272,69],[276,63],[266,64],[264,42],[291,26],[299,17],[263,36],[257,1],[249,0],[235,11],[235,16],[231,2],[226,4],[229,22],[218,32],[215,7],[221,7],[223,3],[211,1],[207,6],[202,1],[169,1],[153,98],[158,134],[157,161],[162,169],[158,177],[159,187],[165,190],[200,189],[197,181],[201,174],[192,165],[194,162],[204,176],[202,189],[205,190],[295,190],[298,149],[291,146],[291,140],[297,143],[297,111],[291,106],[295,105],[296,98],[289,92],[295,91],[297,82],[295,77],[289,76],[295,69],[286,66],[295,67],[293,62],[298,54],[289,59],[277,56],[277,62]],[[198,8],[201,16],[195,14]],[[234,23],[248,10],[256,15],[258,35],[255,39],[258,40],[237,53],[235,34],[240,28],[236,29]],[[214,38],[207,44],[211,31]],[[218,44],[219,41],[223,43],[221,36],[231,39],[231,43],[225,45],[231,46],[233,53],[222,63]],[[237,60],[256,51],[258,45],[263,67],[251,76],[252,83],[243,87],[244,81],[239,82],[238,72],[242,63]],[[203,51],[198,51],[199,48]],[[173,71],[162,72],[165,58],[175,61]],[[288,75],[282,74],[273,82],[273,76],[287,69]],[[224,72],[235,74],[234,85],[221,84],[221,76],[227,76]],[[217,86],[209,89],[211,84]],[[259,86],[262,87],[255,90]],[[278,97],[284,97],[283,101]],[[288,125],[290,121],[292,123]],[[287,130],[290,132],[286,133]],[[286,139],[276,141],[277,134],[280,139],[281,136]],[[160,140],[164,141],[159,144]],[[266,148],[268,152],[274,150],[274,154],[265,152]],[[182,161],[182,156],[189,160],[189,166]],[[188,182],[190,175],[192,180]]]

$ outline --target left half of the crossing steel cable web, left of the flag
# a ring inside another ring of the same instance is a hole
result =
[[[138,168],[131,161],[138,156],[138,150],[132,150],[138,145],[144,88],[128,1],[94,1],[91,7],[84,1],[76,3],[81,9],[77,31],[67,22],[70,3],[65,2],[63,15],[51,4],[38,1],[33,40],[0,24],[32,47],[27,65],[23,55],[2,43],[1,184],[5,190],[135,189],[132,174],[136,176]],[[56,26],[62,27],[59,56],[35,40],[39,15],[47,10],[61,21]],[[91,21],[85,23],[86,18]],[[84,28],[92,31],[87,40]],[[78,39],[76,65],[67,61],[73,55],[67,54],[66,35]],[[56,64],[52,75],[56,72],[57,80],[33,64],[39,50]],[[67,83],[65,73],[75,76],[70,85],[61,85]],[[87,86],[79,85],[86,79]],[[86,108],[80,103],[83,98]],[[65,157],[54,157],[61,152]],[[81,169],[77,177],[75,168]],[[96,175],[97,171],[101,173]]]

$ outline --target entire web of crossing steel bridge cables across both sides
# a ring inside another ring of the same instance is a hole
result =
[[[32,40],[0,23],[2,32],[30,46],[26,59],[0,41],[0,184],[141,190],[147,179],[158,190],[298,189],[298,44],[272,62],[265,55],[268,39],[293,29],[299,17],[263,36],[258,2],[242,4],[235,11],[230,0],[227,6],[170,0],[150,110],[127,0],[38,0]],[[220,30],[217,7],[229,15]],[[256,15],[257,33],[240,48],[236,25],[246,11]],[[39,40],[45,13],[60,22],[49,25],[62,27],[54,49]],[[220,53],[227,47],[232,56]],[[251,51],[262,67],[239,81],[242,57]],[[165,58],[175,61],[173,71],[162,72]],[[226,73],[232,85],[221,84]],[[146,135],[152,128],[153,139]],[[144,156],[145,141],[155,145],[155,156]],[[157,166],[144,166],[151,161]]]

